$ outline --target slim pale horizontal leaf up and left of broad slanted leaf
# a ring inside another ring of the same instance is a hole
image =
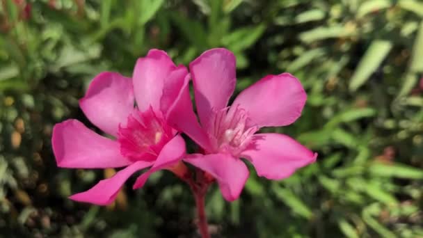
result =
[[[316,40],[324,40],[328,38],[343,38],[356,34],[353,29],[348,29],[345,26],[320,26],[310,31],[305,31],[300,34],[300,39],[303,42],[311,43]]]

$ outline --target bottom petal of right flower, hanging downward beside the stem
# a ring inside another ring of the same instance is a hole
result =
[[[213,175],[228,201],[239,198],[250,174],[244,162],[230,154],[189,154],[184,161]]]

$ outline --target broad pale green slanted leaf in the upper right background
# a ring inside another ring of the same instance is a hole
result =
[[[374,40],[372,42],[351,77],[349,83],[349,90],[351,92],[356,91],[360,86],[365,84],[367,79],[381,65],[391,48],[392,43],[388,40]]]

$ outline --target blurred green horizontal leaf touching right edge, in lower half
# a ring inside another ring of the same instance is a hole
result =
[[[423,179],[423,169],[404,164],[382,164],[374,162],[369,167],[369,173],[381,177],[400,177],[404,179]]]

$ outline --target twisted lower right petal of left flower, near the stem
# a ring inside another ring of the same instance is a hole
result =
[[[139,189],[144,186],[145,182],[147,182],[148,177],[157,170],[161,170],[166,168],[170,165],[176,164],[177,161],[180,161],[182,157],[185,155],[185,141],[182,136],[177,135],[172,140],[170,140],[166,145],[164,145],[163,149],[157,157],[156,161],[154,161],[154,165],[148,170],[147,172],[140,175],[134,184],[133,189]]]

